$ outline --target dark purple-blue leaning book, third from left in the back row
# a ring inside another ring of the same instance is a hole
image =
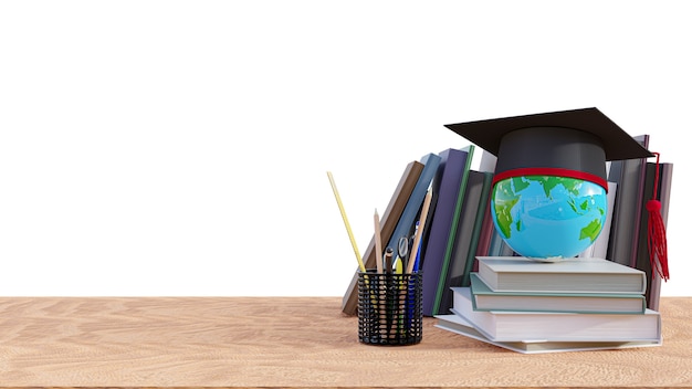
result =
[[[433,196],[437,188],[437,203],[432,213],[430,234],[422,255],[422,309],[423,315],[431,316],[437,285],[445,261],[451,256],[451,242],[459,224],[461,203],[469,177],[474,146],[459,150],[442,151],[447,158],[433,181]]]

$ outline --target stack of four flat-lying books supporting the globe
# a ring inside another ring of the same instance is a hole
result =
[[[647,274],[597,257],[545,263],[479,256],[437,327],[524,354],[662,345]]]

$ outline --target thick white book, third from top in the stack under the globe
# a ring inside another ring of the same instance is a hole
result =
[[[493,341],[660,341],[661,315],[475,311],[470,287],[453,287],[452,312]]]

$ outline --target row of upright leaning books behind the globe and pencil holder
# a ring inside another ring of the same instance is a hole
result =
[[[648,147],[648,135],[635,137]],[[478,150],[482,153],[476,153]],[[474,156],[480,166],[473,169]],[[432,200],[420,241],[419,260],[423,274],[423,315],[447,314],[452,307],[452,286],[470,287],[470,273],[478,269],[478,256],[516,255],[492,220],[492,180],[496,157],[474,145],[428,153],[405,167],[389,203],[381,215],[381,250],[375,234],[361,257],[375,269],[387,248],[397,257],[398,242],[411,236],[420,219],[429,189]],[[646,158],[608,161],[608,210],[604,228],[580,257],[602,257],[639,269],[647,274],[647,307],[658,309],[661,274],[651,266],[648,248],[648,200],[661,203],[665,224],[670,209],[673,164],[650,162]],[[353,240],[352,240],[353,244]],[[342,308],[357,313],[358,271],[344,295]]]

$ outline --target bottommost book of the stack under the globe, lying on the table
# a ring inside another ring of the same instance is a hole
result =
[[[653,347],[661,346],[663,344],[662,338],[650,341],[494,341],[485,337],[482,333],[476,330],[473,325],[469,323],[469,320],[459,315],[449,314],[437,315],[434,317],[438,319],[434,324],[438,328],[521,354],[606,350],[618,348]]]

